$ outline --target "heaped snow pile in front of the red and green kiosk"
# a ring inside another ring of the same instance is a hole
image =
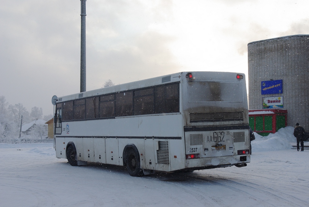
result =
[[[290,149],[292,147],[290,142],[296,142],[293,132],[294,127],[281,128],[275,134],[271,133],[268,136],[260,136],[253,132],[255,140],[251,142],[252,152]]]

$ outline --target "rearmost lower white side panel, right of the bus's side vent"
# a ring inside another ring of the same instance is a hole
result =
[[[186,157],[185,157],[185,146],[182,140],[170,140],[170,166],[171,171],[180,170],[185,168]]]

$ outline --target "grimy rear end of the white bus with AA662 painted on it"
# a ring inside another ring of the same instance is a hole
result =
[[[183,73],[186,168],[246,166],[250,162],[245,75]]]

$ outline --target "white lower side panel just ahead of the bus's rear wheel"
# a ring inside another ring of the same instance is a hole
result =
[[[119,165],[118,138],[106,138],[106,164]]]

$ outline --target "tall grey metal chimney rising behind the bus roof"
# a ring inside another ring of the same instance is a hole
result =
[[[80,92],[86,91],[86,0],[81,3],[80,27]]]

